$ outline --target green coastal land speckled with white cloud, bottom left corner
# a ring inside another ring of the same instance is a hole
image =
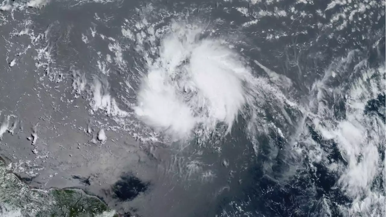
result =
[[[30,188],[0,158],[0,217],[118,217],[95,196],[78,189]]]

